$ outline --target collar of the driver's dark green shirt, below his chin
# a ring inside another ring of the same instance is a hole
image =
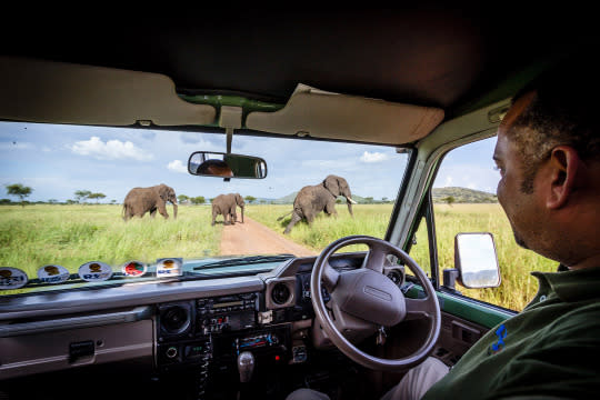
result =
[[[600,297],[600,267],[569,270],[560,264],[558,272],[531,272],[562,301],[579,301]]]

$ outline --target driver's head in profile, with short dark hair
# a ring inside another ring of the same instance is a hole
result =
[[[594,77],[562,64],[530,82],[513,98],[493,156],[517,242],[569,267],[600,266]]]

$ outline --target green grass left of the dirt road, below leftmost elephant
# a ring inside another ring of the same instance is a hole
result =
[[[120,266],[166,257],[218,254],[221,224],[210,226],[210,207],[179,207],[178,219],[121,219],[120,206],[0,207],[0,266],[37,277],[54,263],[77,272],[88,261]]]

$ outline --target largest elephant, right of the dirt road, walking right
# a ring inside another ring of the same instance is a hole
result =
[[[290,233],[293,226],[302,218],[306,218],[309,226],[311,226],[314,217],[321,211],[324,211],[328,216],[337,217],[336,199],[338,196],[346,197],[348,211],[350,212],[350,216],[353,217],[352,204],[356,204],[357,202],[352,200],[350,186],[346,179],[330,174],[319,184],[307,186],[300,189],[293,200],[293,210],[277,219],[280,221],[283,217],[290,213],[292,214],[291,221],[288,223],[288,227],[286,227],[283,233]]]

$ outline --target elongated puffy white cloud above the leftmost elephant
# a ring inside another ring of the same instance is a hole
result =
[[[91,156],[99,160],[133,159],[137,161],[149,161],[154,158],[152,153],[143,151],[130,141],[109,140],[103,142],[99,137],[78,141],[69,148],[77,154]]]

